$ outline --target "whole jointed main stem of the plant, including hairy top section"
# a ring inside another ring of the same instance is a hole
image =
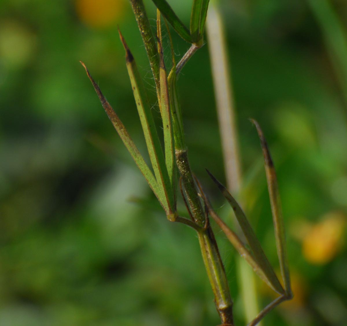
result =
[[[141,35],[147,51],[147,56],[149,57],[151,63],[158,98],[160,98],[160,61],[154,37],[150,29],[150,24],[142,0],[130,0],[130,2],[132,3],[137,24],[141,31]],[[185,65],[189,58],[192,57],[192,55],[198,48],[200,48],[200,46],[193,44],[193,46],[187,51],[187,53],[184,55],[184,57],[177,65],[178,68],[176,68],[176,74],[179,73],[181,68]],[[169,94],[170,96],[174,96],[174,99],[170,99],[170,105],[172,104],[171,114],[178,114],[179,116],[176,117],[176,120],[177,122],[179,122],[181,121],[181,116],[180,109],[177,106],[178,96],[176,93],[176,80],[175,78],[172,78],[170,79],[170,81],[172,83],[169,82]],[[205,216],[201,199],[197,192],[193,173],[189,166],[186,144],[183,137],[183,126],[180,123],[173,123],[173,132],[174,135],[176,135],[176,137],[179,137],[179,139],[175,138],[176,164],[182,177],[182,185],[185,190],[187,202],[191,210],[194,223],[197,225],[197,227],[189,223],[189,220],[181,220],[176,216],[172,216],[172,219],[170,220],[183,222],[197,230],[198,239],[201,247],[201,253],[209,277],[209,281],[211,283],[211,287],[214,293],[217,311],[220,315],[222,323],[225,325],[232,326],[232,300],[230,297],[228,281],[222,260],[220,258],[218,246],[213,235],[213,231],[208,223],[207,217]]]

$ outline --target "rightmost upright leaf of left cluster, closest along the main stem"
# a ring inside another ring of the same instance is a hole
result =
[[[160,24],[159,24],[160,25]],[[166,74],[166,68],[164,65],[163,49],[161,46],[161,39],[158,42],[160,66],[159,66],[159,80],[160,80],[160,107],[161,118],[163,122],[164,133],[164,149],[165,149],[165,161],[166,168],[169,174],[172,192],[176,194],[176,163],[175,163],[175,145],[174,145],[174,133],[172,131],[172,120],[170,112],[170,100],[168,91],[168,80]],[[175,196],[176,203],[176,196]]]

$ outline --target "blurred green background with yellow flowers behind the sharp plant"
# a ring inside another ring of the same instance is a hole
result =
[[[170,3],[188,24],[191,1]],[[154,6],[145,5],[154,26]],[[295,299],[264,324],[346,325],[347,3],[220,5],[245,209],[276,268],[261,148],[249,117],[267,137],[287,227]],[[194,231],[166,220],[78,62],[145,152],[117,24],[154,105],[128,1],[0,2],[0,325],[219,323]],[[172,34],[178,59],[188,44]],[[231,223],[204,170],[225,180],[207,46],[184,68],[179,91],[192,169]],[[236,325],[246,325],[235,250],[215,230]],[[258,289],[265,306],[273,294],[261,282]]]

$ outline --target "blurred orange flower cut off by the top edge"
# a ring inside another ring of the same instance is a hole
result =
[[[124,15],[125,8],[125,0],[76,0],[77,16],[91,27],[115,24]]]

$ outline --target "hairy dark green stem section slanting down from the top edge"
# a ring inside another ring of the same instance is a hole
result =
[[[145,44],[145,49],[147,52],[148,59],[150,60],[151,69],[154,76],[154,81],[156,85],[156,91],[160,94],[160,81],[159,81],[159,54],[156,47],[156,42],[154,35],[151,30],[150,22],[148,20],[145,7],[142,0],[130,0],[133,7],[135,18],[137,21],[138,28],[141,32],[143,43]]]

